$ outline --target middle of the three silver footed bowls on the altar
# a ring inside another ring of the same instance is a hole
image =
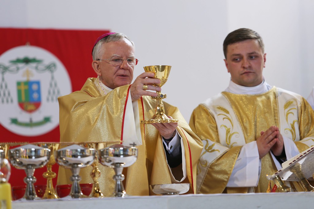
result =
[[[72,198],[84,197],[78,182],[81,180],[79,171],[81,168],[91,165],[94,162],[96,151],[92,148],[84,148],[73,144],[56,151],[57,164],[71,169],[72,176],[70,196]]]

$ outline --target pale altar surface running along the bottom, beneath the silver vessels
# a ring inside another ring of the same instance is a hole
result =
[[[194,208],[308,208],[314,199],[313,192],[248,193],[248,194],[198,194],[164,196],[129,196],[126,198],[82,198],[55,200],[17,200],[12,208],[127,208],[127,209],[194,209]]]

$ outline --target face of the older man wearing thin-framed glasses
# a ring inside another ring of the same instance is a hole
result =
[[[100,54],[100,60],[94,60],[92,65],[100,77],[100,81],[111,89],[119,86],[131,84],[133,80],[134,66],[128,65],[127,60],[134,58],[134,47],[127,39],[102,44],[103,53]],[[122,64],[117,65],[111,60],[122,58]]]

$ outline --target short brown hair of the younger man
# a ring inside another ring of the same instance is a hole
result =
[[[234,44],[236,42],[245,41],[247,39],[256,39],[258,41],[258,44],[262,48],[262,51],[264,53],[264,43],[262,37],[255,32],[254,30],[248,29],[248,28],[240,28],[235,31],[232,31],[230,34],[227,35],[225,38],[223,49],[224,49],[224,55],[225,59],[227,59],[227,47],[230,44]]]

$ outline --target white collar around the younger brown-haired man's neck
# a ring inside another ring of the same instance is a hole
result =
[[[262,94],[269,91],[271,88],[272,86],[268,85],[265,80],[253,87],[240,86],[230,80],[229,86],[225,91],[233,94]]]

